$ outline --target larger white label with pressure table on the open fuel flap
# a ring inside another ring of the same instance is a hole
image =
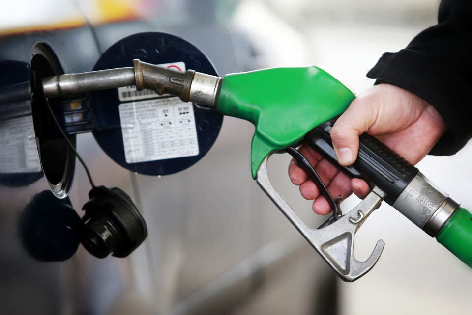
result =
[[[122,103],[118,109],[127,163],[199,154],[191,103],[166,97]]]

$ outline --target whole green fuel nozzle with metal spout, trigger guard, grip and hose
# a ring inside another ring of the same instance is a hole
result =
[[[341,279],[354,281],[378,261],[383,250],[382,240],[377,242],[365,262],[354,258],[353,249],[356,231],[382,201],[436,237],[472,267],[472,213],[461,208],[403,157],[376,138],[362,134],[355,163],[349,167],[337,163],[330,131],[336,116],[346,110],[355,95],[321,68],[272,68],[229,74],[222,79],[193,70],[181,72],[134,60],[133,67],[129,68],[44,78],[43,91],[46,97],[57,97],[131,84],[135,84],[138,91],[146,88],[160,95],[175,95],[182,101],[216,108],[224,115],[254,124],[253,178]],[[371,193],[353,210],[340,214],[307,159],[289,148],[301,142],[349,177],[369,182],[373,186]],[[268,179],[267,159],[280,150],[292,152],[310,179],[332,201],[333,215],[318,229],[304,224]]]

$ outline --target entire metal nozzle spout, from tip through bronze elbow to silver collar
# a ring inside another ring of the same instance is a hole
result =
[[[81,93],[136,85],[159,95],[178,96],[184,102],[216,107],[221,78],[194,70],[179,71],[133,60],[133,67],[65,74],[42,79],[45,97],[71,96]]]

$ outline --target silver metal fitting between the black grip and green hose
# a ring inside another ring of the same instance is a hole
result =
[[[393,204],[410,221],[434,237],[459,203],[418,173]]]

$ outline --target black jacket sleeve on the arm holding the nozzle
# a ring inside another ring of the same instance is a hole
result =
[[[367,74],[433,105],[448,131],[431,150],[451,155],[472,136],[472,1],[442,0],[438,24],[397,53],[384,53]]]

